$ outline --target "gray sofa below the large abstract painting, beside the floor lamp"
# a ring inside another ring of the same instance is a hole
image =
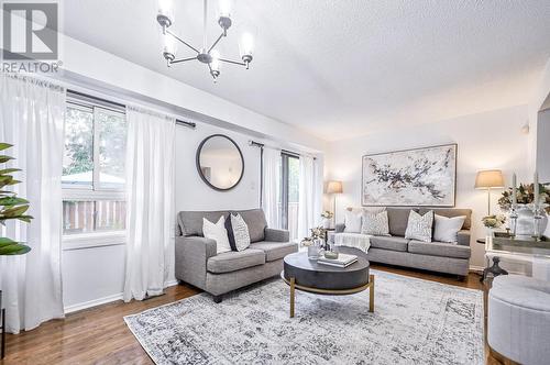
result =
[[[458,244],[407,240],[405,239],[405,231],[411,208],[387,208],[386,210],[392,236],[371,237],[371,248],[369,248],[366,255],[370,262],[453,274],[461,278],[468,275],[471,255],[470,226],[472,224],[472,210],[414,208],[420,214],[433,210],[437,214],[443,217],[466,215],[462,230],[459,232]],[[329,241],[333,242],[333,235],[343,232],[344,229],[344,224],[337,224],[334,233],[329,234]]]

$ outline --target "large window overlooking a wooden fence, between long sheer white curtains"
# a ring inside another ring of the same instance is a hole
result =
[[[63,233],[125,229],[125,115],[88,101],[67,103]]]

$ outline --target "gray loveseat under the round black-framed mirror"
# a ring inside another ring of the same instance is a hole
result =
[[[216,241],[205,239],[202,218],[217,222],[229,211],[182,211],[176,229],[176,278],[210,292],[216,302],[222,295],[279,275],[283,258],[298,251],[288,242],[288,231],[267,228],[261,209],[238,212],[249,226],[251,245],[241,252],[217,254]]]

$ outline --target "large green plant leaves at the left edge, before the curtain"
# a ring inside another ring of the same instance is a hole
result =
[[[9,143],[0,143],[0,151],[12,147]],[[6,164],[13,157],[0,154],[0,164]],[[31,223],[31,215],[26,215],[29,210],[29,200],[19,198],[15,192],[7,190],[10,186],[21,181],[13,178],[12,173],[20,172],[19,168],[0,169],[0,224],[6,225],[10,219]],[[31,247],[21,242],[0,236],[0,255],[23,255],[31,251]]]

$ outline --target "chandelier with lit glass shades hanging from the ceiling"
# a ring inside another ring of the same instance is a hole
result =
[[[223,37],[228,35],[228,30],[231,27],[231,1],[221,0],[219,2],[217,21],[221,27],[221,34],[216,38],[216,41],[213,41],[210,46],[208,45],[207,40],[207,10],[208,0],[204,0],[202,46],[200,48],[195,47],[188,42],[184,41],[180,36],[178,36],[170,30],[170,26],[174,23],[174,10],[170,0],[160,0],[156,21],[158,22],[158,24],[161,24],[163,30],[163,56],[164,59],[166,59],[167,66],[170,67],[170,65],[173,64],[180,64],[184,62],[196,59],[208,66],[210,75],[216,82],[217,78],[220,76],[220,63],[244,66],[246,67],[246,69],[249,69],[250,63],[252,62],[254,38],[250,32],[245,32],[241,35],[241,40],[239,42],[241,60],[222,58],[218,49],[216,49],[215,47]],[[196,55],[193,57],[176,58],[176,41],[191,49]]]

